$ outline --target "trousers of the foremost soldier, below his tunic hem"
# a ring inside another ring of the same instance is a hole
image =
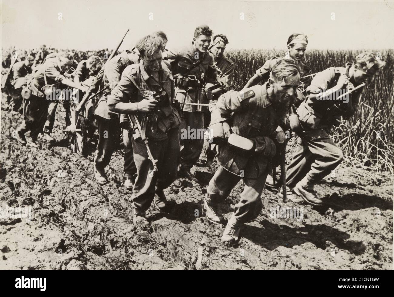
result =
[[[240,201],[234,208],[237,221],[246,223],[254,220],[260,214],[263,208],[260,196],[264,189],[267,173],[265,171],[257,179],[243,178],[245,187],[241,193]],[[222,203],[240,179],[241,177],[238,175],[219,166],[214,177],[210,180],[208,188],[206,188],[208,200],[212,203]]]

